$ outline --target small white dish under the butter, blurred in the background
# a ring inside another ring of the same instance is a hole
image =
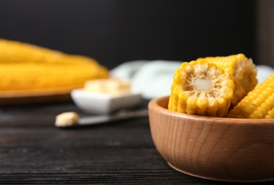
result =
[[[75,105],[91,114],[109,114],[115,110],[135,107],[142,101],[140,93],[107,95],[75,89],[71,91],[70,95]]]

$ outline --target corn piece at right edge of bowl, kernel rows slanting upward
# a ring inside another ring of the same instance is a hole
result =
[[[273,118],[274,117],[274,73],[257,85],[232,110],[228,117]]]

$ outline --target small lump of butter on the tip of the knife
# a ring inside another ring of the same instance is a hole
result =
[[[66,127],[78,125],[79,116],[76,112],[63,112],[56,116],[56,126]]]

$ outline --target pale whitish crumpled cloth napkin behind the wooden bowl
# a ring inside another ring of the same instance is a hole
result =
[[[132,60],[110,70],[114,78],[131,80],[132,90],[142,94],[146,100],[170,94],[173,75],[182,61]],[[256,65],[258,84],[274,72],[268,65]]]

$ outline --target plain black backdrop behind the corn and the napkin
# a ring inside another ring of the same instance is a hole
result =
[[[255,1],[0,0],[0,38],[96,58],[194,60],[255,53]]]

